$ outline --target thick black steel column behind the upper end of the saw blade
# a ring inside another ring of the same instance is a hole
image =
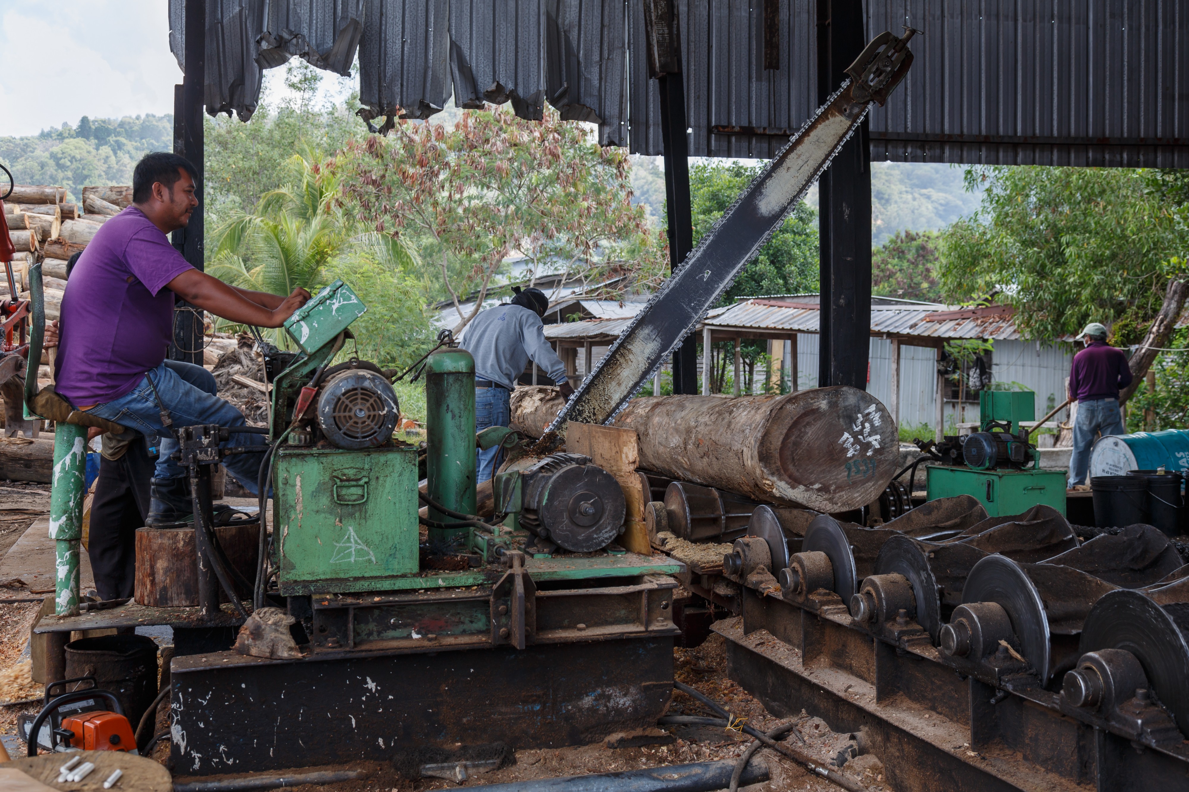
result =
[[[862,0],[818,0],[818,103],[864,44]],[[872,327],[872,152],[867,120],[818,182],[818,384],[867,390]]]

